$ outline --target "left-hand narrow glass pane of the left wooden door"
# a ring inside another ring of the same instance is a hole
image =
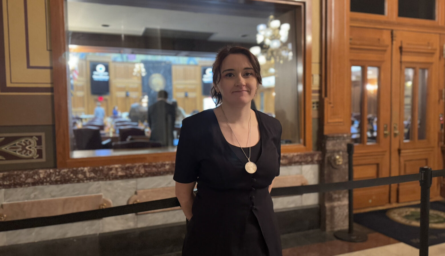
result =
[[[360,143],[360,130],[361,130],[361,110],[362,110],[362,88],[363,88],[363,75],[362,67],[351,67],[351,136],[352,142]]]

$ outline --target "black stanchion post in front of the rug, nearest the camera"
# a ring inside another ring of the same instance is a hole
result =
[[[429,189],[433,179],[431,168],[420,168],[420,256],[428,256],[429,238]]]

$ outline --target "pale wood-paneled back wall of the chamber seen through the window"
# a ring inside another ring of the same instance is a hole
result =
[[[89,60],[79,60],[79,75],[73,82],[71,102],[73,115],[93,114],[96,107],[97,96],[91,95],[89,80]],[[104,61],[103,59],[101,61]],[[142,96],[142,82],[140,76],[133,75],[134,63],[111,62],[110,93],[103,95],[102,107],[107,115],[112,115],[113,107],[117,106],[121,112],[128,112],[131,104],[138,102]],[[201,65],[173,65],[173,98],[178,102],[186,114],[193,110],[203,110]],[[273,96],[270,89],[267,92],[268,105],[273,104]],[[128,95],[127,95],[128,92]],[[257,103],[258,104],[258,103]],[[268,110],[270,107],[268,107]]]

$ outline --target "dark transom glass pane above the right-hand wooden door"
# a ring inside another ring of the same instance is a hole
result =
[[[436,0],[399,0],[399,17],[436,19]]]

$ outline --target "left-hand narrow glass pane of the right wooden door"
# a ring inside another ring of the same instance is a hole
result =
[[[405,68],[405,93],[404,93],[404,118],[403,118],[403,139],[408,142],[412,139],[411,117],[413,114],[413,80],[414,69]]]

